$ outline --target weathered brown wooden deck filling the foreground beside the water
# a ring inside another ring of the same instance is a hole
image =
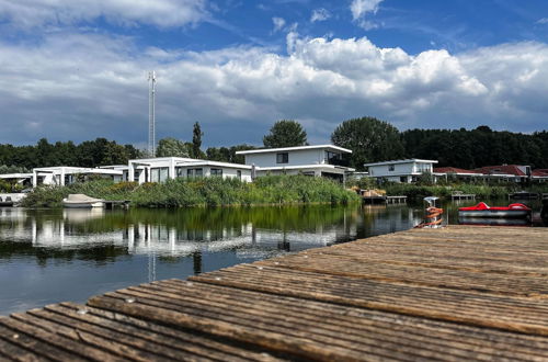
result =
[[[0,360],[548,360],[548,229],[412,229],[0,318]]]

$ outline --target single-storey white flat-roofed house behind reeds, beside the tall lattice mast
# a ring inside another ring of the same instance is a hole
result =
[[[251,181],[251,166],[184,157],[129,160],[127,181],[163,182],[175,178],[222,177]]]

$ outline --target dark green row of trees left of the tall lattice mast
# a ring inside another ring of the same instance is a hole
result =
[[[140,152],[132,145],[118,145],[114,140],[96,138],[80,145],[72,142],[50,144],[42,138],[35,146],[0,145],[0,165],[33,169],[48,166],[98,167],[125,165],[139,158]]]

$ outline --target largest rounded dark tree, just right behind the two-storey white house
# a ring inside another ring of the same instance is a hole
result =
[[[349,120],[331,135],[331,142],[352,150],[350,165],[358,170],[364,163],[402,158],[404,155],[398,128],[374,117]]]

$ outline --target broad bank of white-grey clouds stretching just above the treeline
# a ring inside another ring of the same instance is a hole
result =
[[[260,143],[272,122],[302,121],[310,140],[373,115],[398,127],[546,128],[548,45],[516,43],[465,54],[411,55],[363,38],[287,36],[287,56],[261,47],[149,48],[124,37],[49,34],[0,43],[1,143],[147,137],[146,71],[158,73],[158,137]],[[9,135],[9,137],[7,136]]]

